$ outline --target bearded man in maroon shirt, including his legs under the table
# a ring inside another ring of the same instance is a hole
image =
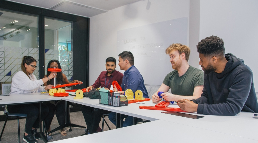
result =
[[[116,59],[114,57],[108,57],[106,59],[106,69],[100,73],[99,77],[92,86],[87,87],[88,90],[93,88],[105,87],[105,89],[110,89],[110,85],[115,80],[119,85],[122,84],[123,74],[116,71]],[[87,125],[88,132],[86,134],[92,134],[95,132],[100,132],[99,122],[103,114],[108,114],[110,111],[97,109],[89,106],[81,106],[81,112],[83,113],[84,120]],[[85,135],[85,134],[84,134]]]

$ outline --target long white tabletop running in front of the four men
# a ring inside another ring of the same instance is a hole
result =
[[[164,114],[161,110],[146,110],[140,109],[139,106],[155,106],[152,101],[145,101],[145,104],[132,103],[128,106],[113,107],[108,105],[99,104],[97,99],[83,98],[80,100],[73,99],[73,96],[61,98],[62,100],[67,100],[69,102],[77,102],[78,104],[88,105],[91,104],[95,108],[108,110],[112,112],[117,112],[120,114],[125,114],[137,118],[142,118],[146,120],[164,120],[171,123],[186,125],[189,127],[196,127],[205,130],[211,130],[215,132],[220,132],[228,135],[240,136],[243,138],[249,138],[253,140],[258,140],[258,118],[253,118],[254,113],[250,112],[240,112],[236,116],[214,116],[214,115],[203,115],[193,113],[193,115],[204,116],[204,118],[192,119],[181,116],[175,116],[170,114]],[[168,107],[176,107],[176,104],[170,104]],[[146,123],[144,123],[146,124]]]

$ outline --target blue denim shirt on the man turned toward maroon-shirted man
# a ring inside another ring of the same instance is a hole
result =
[[[136,90],[141,90],[143,97],[149,98],[142,75],[134,65],[124,72],[121,88],[123,91],[131,89],[133,93],[135,93]]]

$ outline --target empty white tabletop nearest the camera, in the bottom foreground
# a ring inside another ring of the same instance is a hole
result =
[[[163,120],[147,122],[134,126],[128,126],[115,130],[58,140],[53,143],[71,143],[71,142],[257,142],[248,138],[223,134],[211,130],[186,126]]]

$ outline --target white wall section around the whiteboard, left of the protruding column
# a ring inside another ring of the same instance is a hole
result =
[[[149,9],[146,9],[148,1],[143,0],[90,18],[90,85],[95,82],[101,71],[106,70],[107,57],[115,57],[118,61],[117,31],[181,17],[189,19],[189,0],[149,0],[149,2],[151,2]],[[153,67],[158,66],[153,65]],[[116,70],[124,72],[120,70],[118,62]]]

